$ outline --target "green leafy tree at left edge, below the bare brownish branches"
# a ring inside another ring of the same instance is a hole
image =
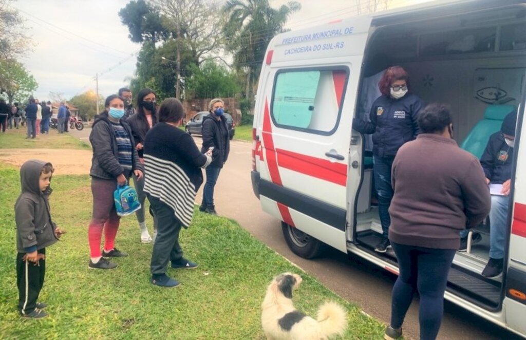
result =
[[[9,104],[24,102],[38,87],[33,75],[14,59],[0,59],[0,88]]]

